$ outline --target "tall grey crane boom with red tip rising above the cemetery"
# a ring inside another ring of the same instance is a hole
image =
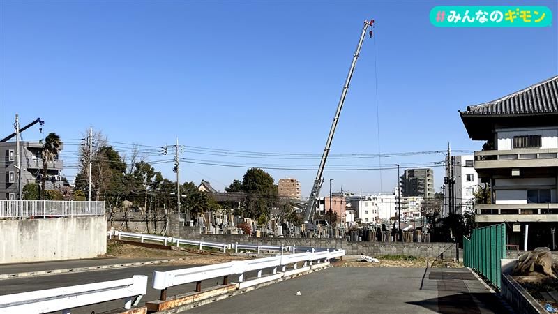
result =
[[[359,44],[356,45],[356,50],[353,54],[353,61],[351,63],[351,67],[349,68],[349,74],[347,74],[347,80],[345,80],[345,84],[343,85],[343,89],[341,91],[341,97],[337,105],[337,111],[335,112],[335,117],[333,117],[333,122],[331,123],[331,128],[329,129],[329,135],[327,137],[326,147],[324,148],[324,154],[322,154],[322,160],[320,160],[319,162],[316,179],[314,179],[314,186],[312,186],[312,190],[310,191],[310,197],[308,197],[308,205],[306,205],[306,211],[304,212],[305,223],[309,223],[310,219],[314,215],[314,209],[316,208],[316,202],[319,196],[319,190],[322,189],[322,184],[324,183],[324,179],[322,177],[324,174],[324,167],[326,166],[327,156],[329,155],[331,141],[333,140],[333,135],[335,134],[335,128],[337,128],[339,116],[341,114],[341,109],[343,107],[343,103],[345,103],[345,97],[347,96],[347,91],[349,90],[349,84],[351,83],[351,78],[354,73],[354,67],[356,66],[356,60],[359,59],[359,53],[361,52],[361,47],[364,42],[364,38],[366,36],[366,31],[368,30],[368,27],[370,28],[374,27],[374,20],[364,21],[361,38],[359,40]],[[372,37],[372,31],[370,31],[370,37]]]

